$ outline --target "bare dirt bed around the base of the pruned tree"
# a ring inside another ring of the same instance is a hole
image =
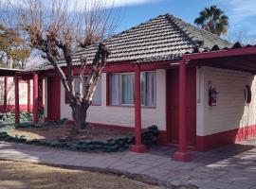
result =
[[[28,140],[38,139],[45,141],[56,141],[58,139],[64,139],[66,136],[70,136],[72,126],[46,126],[43,128],[27,128],[27,129],[12,129],[9,130],[11,136],[24,135]],[[88,129],[84,129],[81,133],[75,134],[72,137],[72,141],[79,140],[92,140],[92,139],[108,139],[109,137],[115,138],[128,133],[120,129],[101,129],[90,126]]]

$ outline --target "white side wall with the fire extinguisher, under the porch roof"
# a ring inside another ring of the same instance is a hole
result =
[[[201,67],[196,73],[196,135],[238,129],[256,124],[256,78],[249,73]],[[217,106],[210,107],[209,81],[217,91]],[[245,103],[244,89],[251,86],[252,99]]]

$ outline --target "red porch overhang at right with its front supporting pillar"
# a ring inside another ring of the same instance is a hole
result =
[[[174,153],[174,160],[188,162],[192,160],[187,150],[186,128],[186,67],[211,66],[223,69],[245,71],[256,74],[256,45],[242,46],[235,43],[231,48],[220,49],[213,46],[210,51],[200,52],[194,49],[191,54],[182,56],[179,61],[179,148]]]

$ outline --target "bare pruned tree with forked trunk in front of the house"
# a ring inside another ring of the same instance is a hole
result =
[[[107,3],[102,0],[20,0],[9,11],[14,12],[19,31],[25,31],[31,47],[44,52],[44,58],[54,67],[61,77],[68,93],[69,106],[77,130],[86,126],[86,112],[92,103],[93,95],[101,79],[102,70],[110,51],[103,39],[115,28],[113,9],[105,9]],[[10,4],[10,2],[9,2]],[[97,44],[94,59],[89,61],[81,56],[79,92],[74,89],[72,52],[78,45],[86,49]],[[60,66],[64,62],[66,73]],[[85,68],[89,68],[88,77],[83,77]],[[85,87],[83,87],[85,86]],[[85,90],[83,90],[85,88]]]

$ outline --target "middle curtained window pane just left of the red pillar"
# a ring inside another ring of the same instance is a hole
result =
[[[134,104],[134,75],[122,75],[122,104]]]

